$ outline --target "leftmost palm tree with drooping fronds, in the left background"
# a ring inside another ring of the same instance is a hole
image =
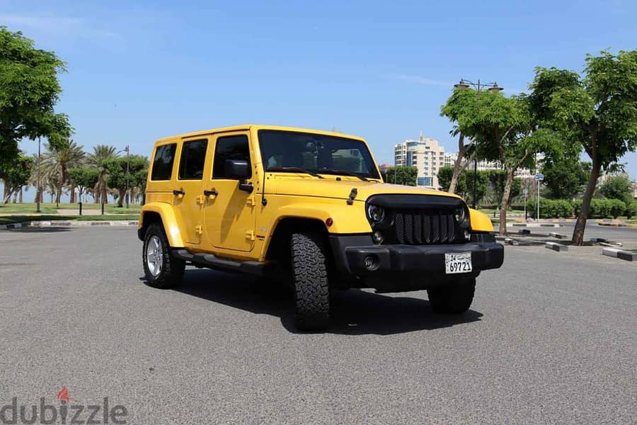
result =
[[[67,186],[69,181],[69,169],[81,166],[84,162],[85,153],[81,145],[77,145],[73,140],[66,146],[53,149],[51,145],[45,143],[45,154],[42,155],[40,170],[43,176],[47,176],[57,184],[56,203],[62,196],[62,188]],[[74,202],[74,191],[71,188],[71,202]]]

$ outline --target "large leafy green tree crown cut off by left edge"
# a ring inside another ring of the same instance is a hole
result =
[[[67,115],[54,111],[64,70],[54,52],[0,26],[0,166],[18,158],[19,140],[47,137],[57,146],[70,137]]]

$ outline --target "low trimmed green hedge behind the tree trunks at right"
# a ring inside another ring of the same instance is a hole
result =
[[[536,218],[536,200],[527,202],[527,210],[532,218]],[[540,198],[540,218],[569,218],[576,217],[582,208],[582,200],[545,199]],[[617,218],[637,216],[637,202],[626,205],[619,199],[592,199],[590,203],[589,218]]]

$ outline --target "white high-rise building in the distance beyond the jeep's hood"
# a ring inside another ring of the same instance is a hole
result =
[[[405,140],[394,145],[396,166],[415,166],[418,186],[438,188],[438,170],[444,166],[444,147],[420,133],[418,140]]]

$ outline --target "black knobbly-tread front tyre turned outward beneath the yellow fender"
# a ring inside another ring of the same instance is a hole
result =
[[[294,233],[290,248],[297,329],[326,329],[330,322],[330,291],[323,238],[314,233]]]

